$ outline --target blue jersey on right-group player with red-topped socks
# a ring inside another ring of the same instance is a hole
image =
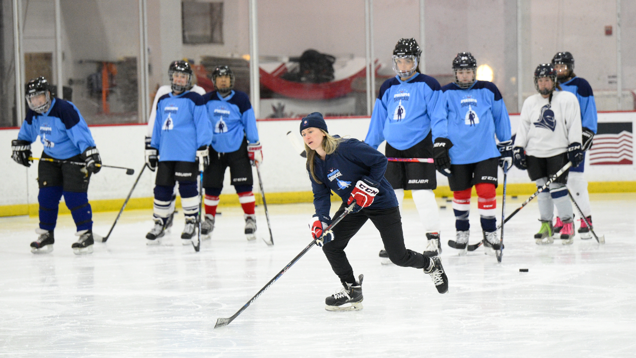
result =
[[[442,87],[445,118],[433,140],[448,138],[451,164],[469,164],[499,157],[497,140],[510,140],[510,118],[499,89],[492,82],[476,81],[468,89],[455,83]]]

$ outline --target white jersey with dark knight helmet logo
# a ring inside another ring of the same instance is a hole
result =
[[[581,143],[581,108],[574,94],[555,91],[552,102],[541,94],[523,102],[515,147],[525,148],[527,155],[554,157],[567,152],[572,143]]]

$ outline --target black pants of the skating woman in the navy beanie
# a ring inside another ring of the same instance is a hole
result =
[[[343,203],[340,209],[336,211],[334,218],[342,214],[345,211],[345,207],[346,205]],[[397,206],[379,210],[364,208],[357,213],[350,213],[333,227],[335,240],[329,241],[322,246],[322,252],[324,252],[333,272],[340,277],[342,283],[356,283],[354,269],[349,264],[344,250],[349,240],[368,219],[380,231],[384,248],[389,254],[389,259],[394,264],[411,268],[424,268],[429,265],[428,257],[404,247],[402,220]]]

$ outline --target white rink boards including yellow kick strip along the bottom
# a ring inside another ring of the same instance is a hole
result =
[[[329,132],[364,139],[370,118],[331,118],[327,120]],[[513,133],[518,125],[518,115],[511,115]],[[636,122],[636,112],[608,112],[598,114],[599,123],[630,123],[632,128]],[[305,159],[300,157],[287,138],[291,131],[300,142],[298,119],[258,120],[259,134],[263,144],[264,161],[261,166],[263,187],[266,199],[270,203],[310,202],[311,186],[305,172]],[[114,166],[134,168],[135,174],[126,175],[121,169],[104,168],[91,178],[88,197],[94,211],[119,210],[123,198],[128,195],[132,184],[144,165],[144,135],[146,125],[106,125],[90,127],[97,148],[100,150],[102,162]],[[631,134],[631,133],[630,133]],[[37,215],[38,182],[37,162],[31,168],[19,166],[11,160],[11,140],[17,138],[18,129],[0,130],[0,182],[3,189],[0,196],[0,216]],[[384,144],[378,148],[384,152]],[[632,157],[632,140],[626,148]],[[42,145],[36,141],[32,145],[34,156],[39,157]],[[590,165],[586,159],[586,177],[590,182],[590,192],[636,192],[636,168],[633,164]],[[229,174],[229,173],[228,173]],[[132,193],[127,209],[151,208],[153,183],[155,175],[148,169],[144,171]],[[254,170],[254,192],[258,192],[258,182]],[[499,178],[502,181],[502,176]],[[512,168],[508,174],[509,195],[532,194],[536,188],[530,182],[527,173]],[[448,189],[448,181],[438,173],[438,196],[452,196]],[[501,187],[498,189],[501,194]],[[257,197],[259,197],[257,195]],[[334,199],[337,199],[334,197]],[[257,199],[259,200],[259,198]],[[238,204],[233,187],[226,175],[223,189],[223,204]],[[66,207],[60,206],[61,212]]]

